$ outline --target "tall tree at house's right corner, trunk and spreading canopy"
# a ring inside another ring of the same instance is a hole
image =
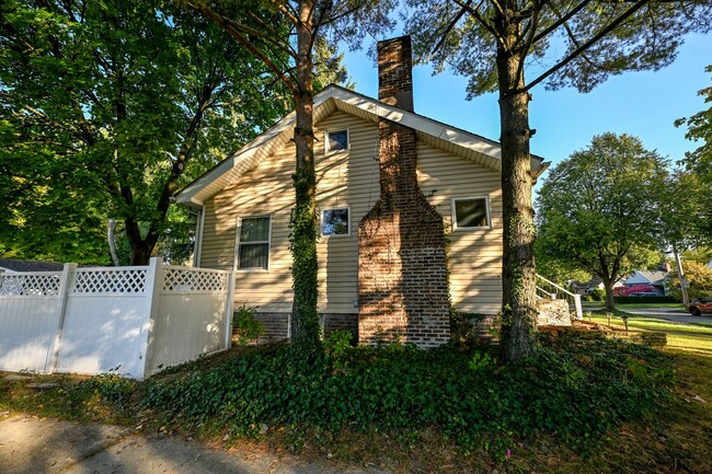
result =
[[[498,91],[504,200],[503,356],[536,347],[529,91],[590,91],[610,74],[670,63],[690,31],[709,31],[712,4],[688,1],[409,0],[422,60],[470,78],[469,96]],[[559,46],[559,47],[556,47]],[[561,54],[558,54],[562,51]],[[549,63],[527,81],[528,65]]]

